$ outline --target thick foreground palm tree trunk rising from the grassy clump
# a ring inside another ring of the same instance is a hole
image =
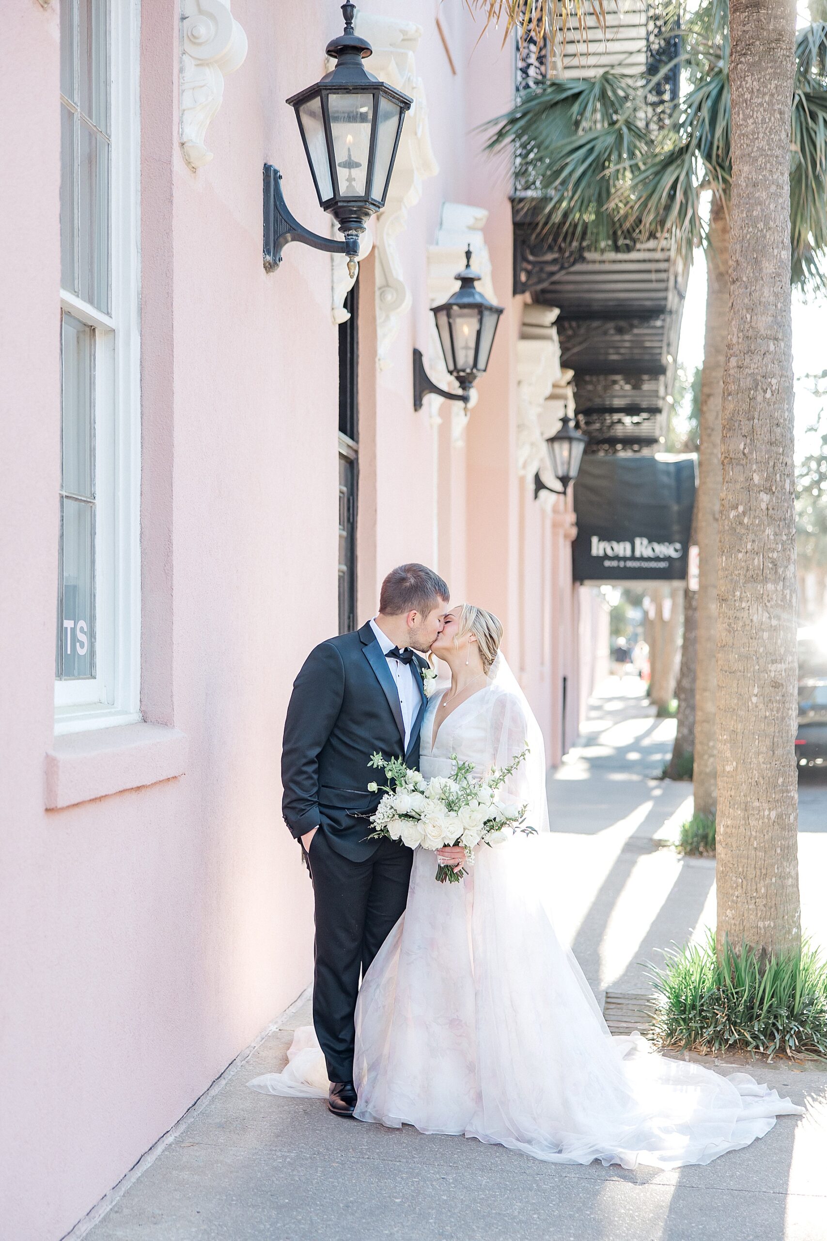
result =
[[[732,0],[718,561],[718,943],[800,944],[790,311],[792,0]]]

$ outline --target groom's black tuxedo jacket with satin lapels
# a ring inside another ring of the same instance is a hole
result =
[[[420,704],[404,759],[419,766],[419,730],[425,692],[414,656],[414,680]],[[369,624],[356,633],[330,638],[310,652],[293,683],[284,724],[281,783],[284,822],[294,836],[319,825],[329,844],[352,861],[362,861],[378,848],[366,840],[368,817],[381,793],[368,793],[371,781],[384,782],[368,767],[374,751],[386,758],[404,750],[404,722],[399,695],[388,661]]]

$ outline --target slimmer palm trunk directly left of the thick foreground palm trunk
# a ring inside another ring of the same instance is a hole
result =
[[[701,375],[698,448],[698,650],[694,700],[694,808],[714,814],[717,800],[715,627],[718,596],[718,508],[720,505],[720,393],[729,311],[729,221],[715,197],[707,243],[707,325]]]

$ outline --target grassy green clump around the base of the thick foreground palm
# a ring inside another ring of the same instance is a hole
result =
[[[808,943],[769,961],[728,943],[719,959],[709,932],[704,944],[668,951],[651,974],[661,1046],[827,1055],[827,962]]]

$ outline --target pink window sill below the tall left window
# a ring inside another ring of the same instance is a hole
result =
[[[55,737],[46,752],[46,809],[184,776],[187,737],[160,724],[128,724]]]

